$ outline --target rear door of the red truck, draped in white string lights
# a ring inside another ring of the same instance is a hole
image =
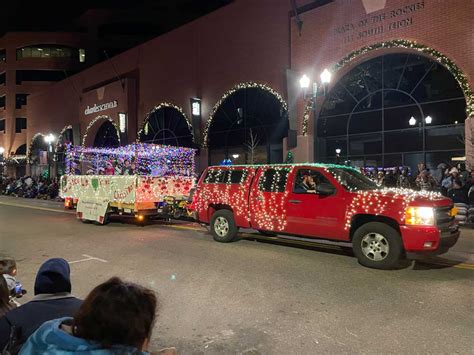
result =
[[[250,222],[252,228],[283,232],[287,219],[285,203],[286,183],[290,168],[260,168],[250,191]]]

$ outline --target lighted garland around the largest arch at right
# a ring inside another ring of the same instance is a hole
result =
[[[432,59],[436,60],[438,63],[442,64],[446,69],[448,69],[451,75],[456,79],[459,86],[461,87],[461,90],[464,93],[464,97],[466,99],[467,117],[474,116],[474,94],[472,92],[472,89],[469,86],[469,82],[466,78],[466,75],[464,75],[461,69],[459,69],[459,67],[451,59],[446,57],[444,54],[437,51],[436,49],[424,46],[415,41],[409,41],[405,39],[396,39],[392,41],[379,42],[379,43],[371,44],[370,46],[359,48],[349,53],[344,58],[342,58],[339,62],[334,64],[331,68],[331,71],[333,73],[336,73],[341,68],[351,63],[354,59],[359,58],[360,56],[370,53],[372,51],[376,51],[376,50],[380,50],[384,48],[411,49],[411,50],[423,53],[431,57]],[[309,124],[309,117],[311,115],[312,105],[313,105],[313,101],[308,100],[308,103],[306,104],[303,111],[303,124],[302,124],[303,136],[306,136],[308,134],[308,124]]]

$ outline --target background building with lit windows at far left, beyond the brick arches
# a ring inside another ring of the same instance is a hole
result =
[[[7,157],[24,160],[27,153],[30,95],[84,64],[80,34],[12,32],[0,38],[0,146]]]

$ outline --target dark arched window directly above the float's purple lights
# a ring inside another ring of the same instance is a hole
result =
[[[180,107],[162,103],[145,118],[143,127],[138,132],[138,141],[191,148],[194,141],[193,130]]]

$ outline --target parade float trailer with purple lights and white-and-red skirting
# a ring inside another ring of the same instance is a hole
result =
[[[60,196],[77,218],[106,224],[111,215],[181,216],[195,185],[195,150],[155,144],[68,146]]]

